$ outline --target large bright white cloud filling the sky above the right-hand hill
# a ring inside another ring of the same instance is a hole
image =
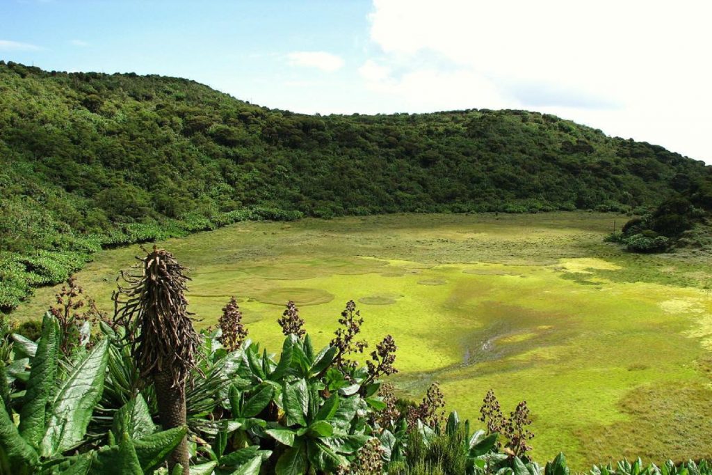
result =
[[[525,108],[712,163],[712,4],[374,0],[370,90],[417,110]]]

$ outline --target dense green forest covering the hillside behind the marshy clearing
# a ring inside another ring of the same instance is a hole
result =
[[[521,110],[300,115],[185,79],[0,62],[0,309],[103,247],[244,219],[642,214],[709,172]]]

